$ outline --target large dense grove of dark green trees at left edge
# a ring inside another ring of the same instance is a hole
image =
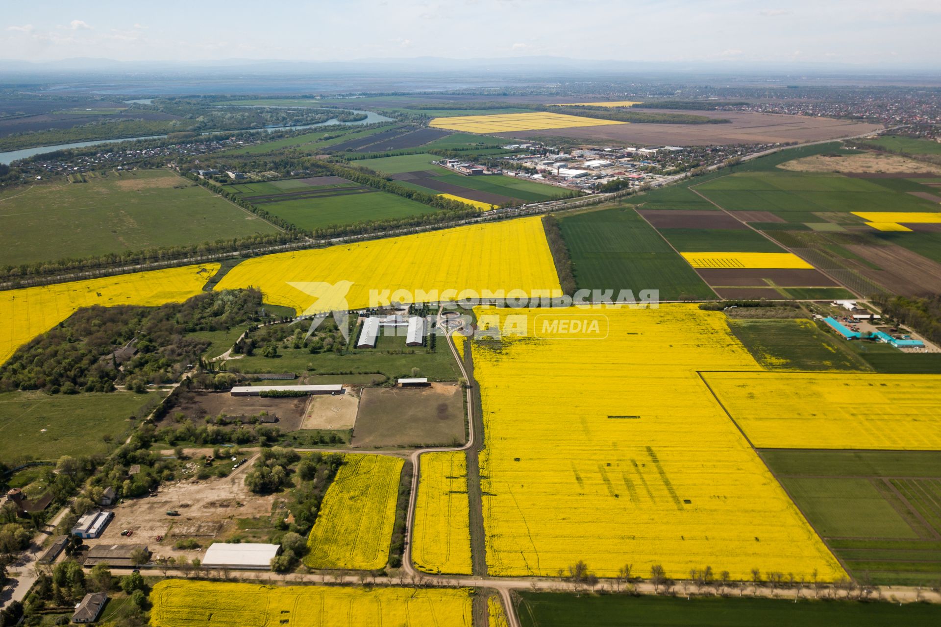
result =
[[[80,309],[0,367],[0,390],[77,394],[125,384],[145,392],[148,384],[175,381],[209,348],[208,340],[187,334],[257,319],[261,305],[259,290],[223,290],[159,307]]]

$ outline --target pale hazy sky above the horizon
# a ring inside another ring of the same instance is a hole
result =
[[[564,56],[937,67],[941,0],[3,0],[0,59]]]

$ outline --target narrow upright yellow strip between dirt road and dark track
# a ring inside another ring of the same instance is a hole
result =
[[[470,574],[467,455],[425,453],[419,467],[412,561],[424,572]]]

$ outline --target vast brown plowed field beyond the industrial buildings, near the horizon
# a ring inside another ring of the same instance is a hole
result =
[[[658,110],[658,113],[689,114],[689,111]],[[503,137],[552,135],[594,140],[613,140],[653,146],[710,146],[728,144],[773,144],[776,142],[812,142],[837,137],[874,133],[882,125],[851,122],[845,119],[810,118],[780,114],[739,111],[696,111],[697,116],[725,118],[727,124],[605,124],[574,129],[549,129],[497,133]]]

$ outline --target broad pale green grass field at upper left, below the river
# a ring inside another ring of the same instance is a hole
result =
[[[0,265],[213,242],[276,228],[166,170],[0,192]]]

